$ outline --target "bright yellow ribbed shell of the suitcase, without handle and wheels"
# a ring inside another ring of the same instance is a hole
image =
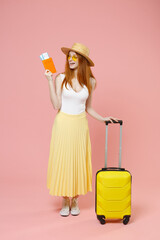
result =
[[[96,214],[106,218],[131,215],[131,174],[128,171],[98,171]]]

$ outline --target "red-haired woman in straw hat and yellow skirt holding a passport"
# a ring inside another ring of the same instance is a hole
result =
[[[50,98],[58,110],[52,127],[50,154],[47,172],[49,194],[62,196],[61,216],[80,213],[78,196],[92,192],[91,142],[86,112],[105,122],[113,117],[102,117],[91,106],[96,80],[90,69],[94,63],[89,58],[89,49],[74,43],[72,48],[61,48],[66,55],[65,72],[55,78],[45,71],[49,82]]]

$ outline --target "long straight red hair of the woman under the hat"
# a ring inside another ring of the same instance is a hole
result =
[[[77,56],[78,56],[78,69],[77,69],[77,79],[79,81],[79,84],[82,86],[82,84],[86,85],[86,87],[88,88],[88,92],[89,95],[91,93],[92,90],[92,85],[91,85],[91,81],[90,81],[90,77],[94,78],[94,75],[92,73],[92,70],[89,66],[89,62],[88,60],[83,57],[82,55],[78,54],[76,52]],[[68,62],[68,55],[66,55],[66,64],[65,64],[65,72],[63,72],[65,74],[65,78],[62,82],[61,85],[61,90],[63,88],[63,84],[65,84],[65,87],[67,88],[67,83],[69,83],[72,87],[72,78],[74,78],[74,70],[70,69],[69,67],[69,62]],[[97,84],[97,83],[96,83]],[[83,87],[83,86],[82,86]]]

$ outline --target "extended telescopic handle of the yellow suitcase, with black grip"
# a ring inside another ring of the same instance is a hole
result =
[[[118,120],[118,122],[116,122],[114,119],[112,120],[113,123],[109,120],[105,121],[106,124],[106,141],[105,141],[105,168],[107,168],[107,142],[108,142],[108,124],[112,123],[119,123],[120,124],[120,143],[119,143],[119,168],[121,168],[121,158],[122,158],[122,124],[123,121],[122,120]]]

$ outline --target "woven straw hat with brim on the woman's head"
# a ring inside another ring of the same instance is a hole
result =
[[[77,52],[88,60],[90,66],[94,66],[94,63],[89,58],[89,48],[81,43],[74,43],[71,48],[62,47],[61,50],[66,55],[69,51]]]

